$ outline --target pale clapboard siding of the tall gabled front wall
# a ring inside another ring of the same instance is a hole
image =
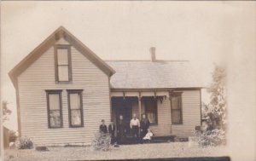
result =
[[[63,39],[60,44],[66,44]],[[71,83],[55,83],[54,48],[49,48],[18,77],[20,131],[35,144],[90,144],[101,119],[110,119],[108,76],[72,47]],[[62,89],[63,128],[48,129],[45,89]],[[67,90],[83,90],[84,127],[69,128]]]

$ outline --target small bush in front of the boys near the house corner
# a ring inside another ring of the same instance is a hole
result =
[[[110,149],[111,137],[109,134],[97,132],[91,146],[96,151],[108,151]]]

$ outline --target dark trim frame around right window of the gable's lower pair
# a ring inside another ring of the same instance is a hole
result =
[[[83,109],[83,91],[84,89],[67,89],[67,103],[68,103],[68,124],[69,128],[82,128],[84,127],[84,109]],[[80,114],[81,114],[81,124],[73,125],[71,124],[71,106],[70,106],[70,94],[79,94],[80,95]]]

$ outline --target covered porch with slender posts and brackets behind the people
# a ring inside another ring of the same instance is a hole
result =
[[[118,126],[119,116],[123,116],[125,135],[129,142],[132,114],[137,114],[137,118],[141,120],[143,113],[145,113],[150,122],[150,129],[154,134],[153,142],[173,141],[169,95],[169,91],[112,92],[111,118],[113,123]]]

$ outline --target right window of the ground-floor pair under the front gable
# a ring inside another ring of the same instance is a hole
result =
[[[84,126],[82,91],[82,89],[67,89],[70,127]]]

